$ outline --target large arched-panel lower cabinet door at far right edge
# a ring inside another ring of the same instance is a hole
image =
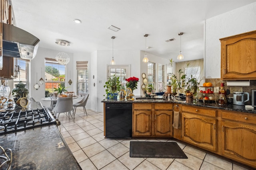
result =
[[[222,121],[222,155],[256,168],[256,125]]]

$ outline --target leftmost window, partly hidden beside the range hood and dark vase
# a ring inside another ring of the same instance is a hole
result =
[[[20,72],[18,72],[18,77],[13,80],[13,84],[15,85],[22,81],[28,88],[28,62],[17,59],[17,65],[20,66]]]

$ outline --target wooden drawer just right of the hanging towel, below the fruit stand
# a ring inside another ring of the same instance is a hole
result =
[[[208,115],[208,116],[213,116],[216,117],[216,112],[217,110],[213,109],[205,109],[202,107],[193,107],[193,106],[182,106],[182,111],[187,111],[190,113],[197,113],[197,114],[202,114],[202,115]]]

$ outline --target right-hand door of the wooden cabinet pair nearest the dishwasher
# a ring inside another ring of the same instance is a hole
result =
[[[172,111],[157,110],[154,113],[154,136],[172,137]]]

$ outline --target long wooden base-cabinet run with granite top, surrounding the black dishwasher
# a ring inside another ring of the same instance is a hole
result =
[[[139,99],[142,98],[142,99]],[[186,103],[182,100],[102,100],[132,104],[132,138],[167,138],[182,141],[249,168],[256,168],[256,110],[215,101]],[[176,113],[176,114],[174,114]],[[106,131],[104,109],[104,133]],[[173,123],[176,123],[175,128]]]

